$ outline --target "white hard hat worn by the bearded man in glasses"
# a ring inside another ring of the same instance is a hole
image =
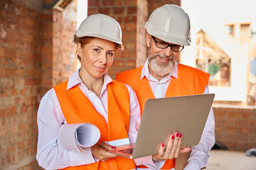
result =
[[[179,6],[166,4],[156,8],[145,24],[146,31],[160,40],[178,45],[190,45],[190,21]]]

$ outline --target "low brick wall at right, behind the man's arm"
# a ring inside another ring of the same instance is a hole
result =
[[[228,149],[245,151],[256,147],[256,107],[213,107],[215,139]]]

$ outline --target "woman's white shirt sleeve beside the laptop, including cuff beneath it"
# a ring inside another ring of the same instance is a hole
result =
[[[131,110],[128,136],[129,136],[129,142],[135,143],[138,130],[139,130],[139,123],[141,120],[139,101],[137,99],[137,96],[134,90],[130,86],[128,85],[126,86],[130,94],[130,110]],[[152,156],[134,159],[134,162],[136,165],[144,164],[149,169],[153,169],[153,170],[160,169],[162,166],[164,166],[163,161],[153,162]]]

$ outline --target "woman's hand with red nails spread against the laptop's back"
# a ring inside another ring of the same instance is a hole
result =
[[[181,149],[182,142],[182,134],[176,132],[174,135],[170,135],[169,140],[167,142],[166,149],[164,150],[164,143],[161,143],[159,148],[159,154],[155,154],[152,156],[154,161],[166,160],[166,159],[174,159],[178,157],[178,154],[190,152],[190,147],[185,147]]]

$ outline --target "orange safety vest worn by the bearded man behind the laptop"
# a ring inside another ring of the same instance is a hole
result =
[[[143,66],[142,66],[143,67]],[[139,100],[141,114],[144,109],[146,99],[155,98],[153,91],[149,85],[149,80],[144,77],[141,79],[142,67],[128,70],[117,74],[117,81],[128,84],[134,89]],[[166,90],[165,97],[186,96],[193,94],[203,94],[208,84],[210,74],[202,72],[199,69],[178,64],[178,77],[172,77]],[[146,166],[138,166],[146,169]],[[174,159],[166,160],[161,169],[173,169],[175,167]]]

